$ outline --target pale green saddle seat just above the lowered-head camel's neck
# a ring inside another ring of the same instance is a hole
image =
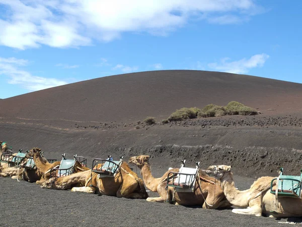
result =
[[[60,177],[65,177],[69,176],[74,173],[74,165],[77,162],[77,154],[73,155],[73,159],[66,159],[65,158],[65,153],[62,154],[62,160],[61,163],[50,169],[50,176],[60,178]],[[57,174],[53,174],[53,172]]]

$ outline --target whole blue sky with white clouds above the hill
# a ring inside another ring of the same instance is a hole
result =
[[[193,69],[302,83],[302,1],[0,0],[0,98]]]

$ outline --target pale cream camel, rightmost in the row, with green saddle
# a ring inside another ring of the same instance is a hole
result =
[[[270,193],[270,183],[273,177],[261,177],[252,184],[250,189],[239,191],[235,187],[230,165],[211,165],[207,172],[220,179],[226,199],[231,204],[241,207],[241,209],[233,209],[234,213],[256,216],[264,214],[276,218],[302,216],[301,199],[279,197],[278,203],[276,203],[275,195]],[[276,185],[273,186],[273,189],[276,189]]]

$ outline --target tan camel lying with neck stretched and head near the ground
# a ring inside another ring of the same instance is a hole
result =
[[[41,187],[48,189],[66,190],[75,184],[82,184],[84,187],[73,187],[72,192],[98,192],[102,195],[125,197],[132,199],[145,199],[148,197],[143,182],[131,171],[126,162],[122,162],[120,171],[113,178],[99,178],[97,173],[91,170],[82,173],[72,174],[62,178],[51,178],[44,182]]]

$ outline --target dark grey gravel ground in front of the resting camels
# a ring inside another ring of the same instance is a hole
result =
[[[162,172],[155,169],[153,174],[161,176]],[[240,190],[249,188],[253,181],[236,177]],[[48,190],[11,178],[0,178],[0,190],[0,226],[286,226],[274,218],[234,214],[231,209],[204,210]],[[157,193],[149,192],[149,196]]]

